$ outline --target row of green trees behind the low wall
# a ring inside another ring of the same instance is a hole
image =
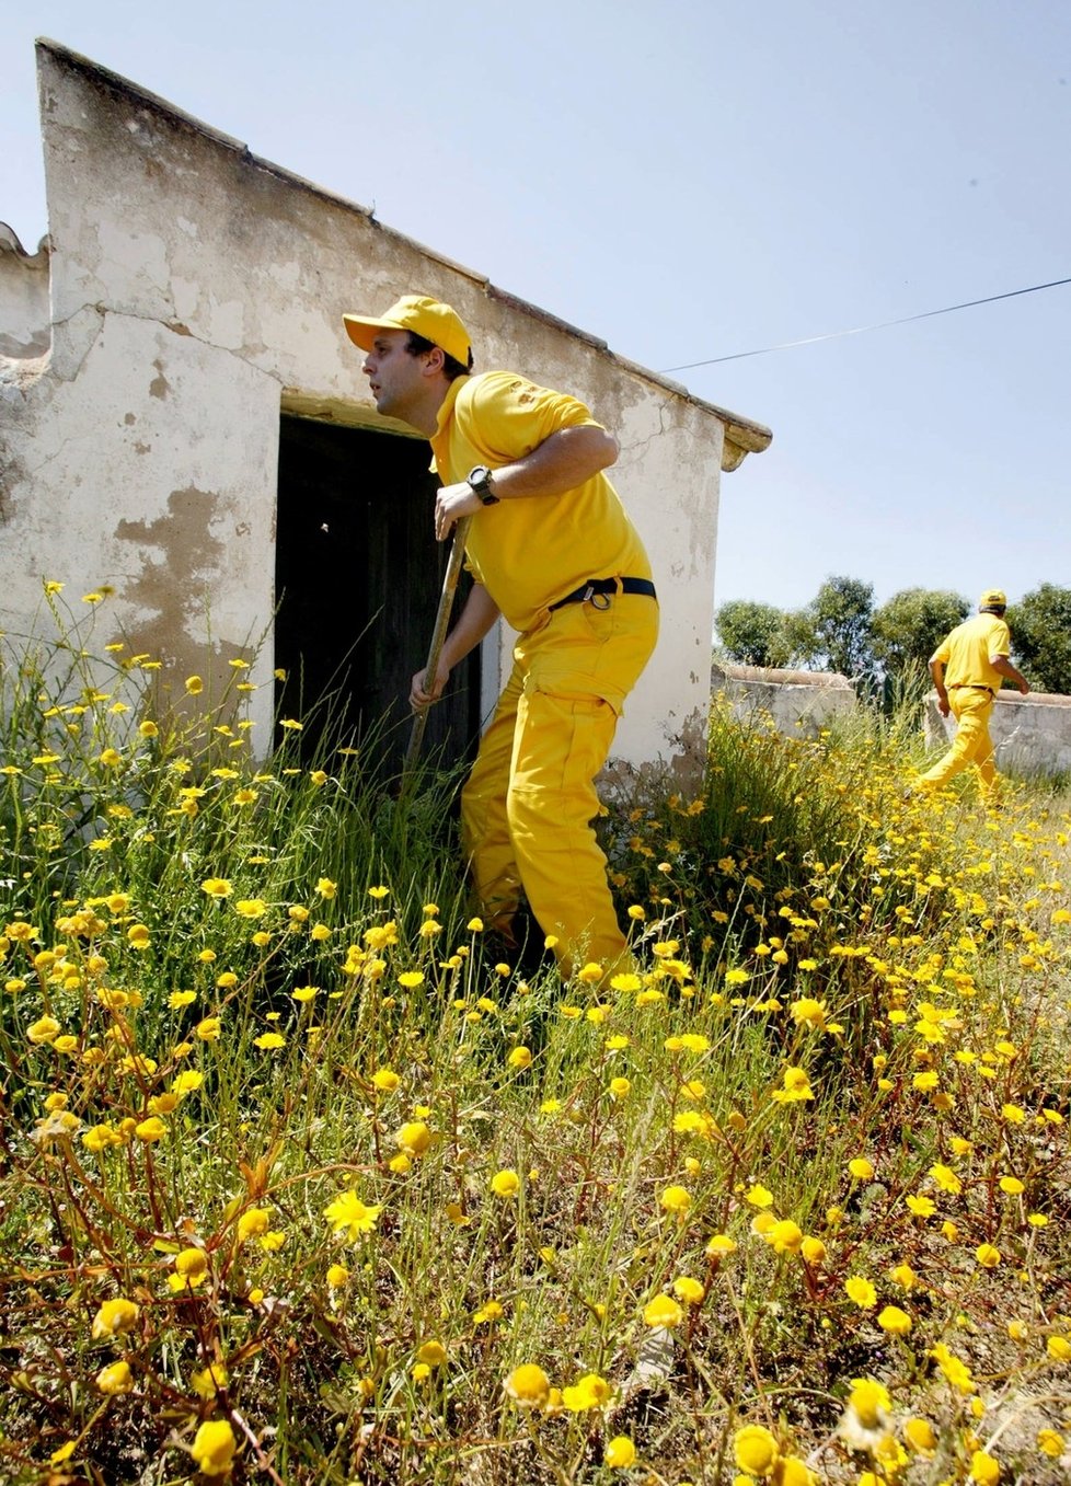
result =
[[[716,654],[746,666],[839,670],[875,685],[918,675],[974,605],[948,588],[903,588],[875,608],[873,584],[829,577],[802,609],[732,599],[714,611]],[[1012,658],[1035,691],[1071,694],[1071,588],[1043,583],[1009,605]]]

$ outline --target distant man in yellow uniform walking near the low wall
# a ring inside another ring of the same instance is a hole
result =
[[[1007,599],[1001,588],[986,588],[979,612],[946,635],[930,657],[930,675],[937,690],[937,707],[957,721],[952,747],[918,780],[924,794],[940,789],[973,764],[985,799],[992,798],[997,768],[989,737],[994,697],[1004,679],[1026,695],[1023,675],[1009,660],[1012,636],[1004,623]]]

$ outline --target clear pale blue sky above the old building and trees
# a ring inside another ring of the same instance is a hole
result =
[[[10,3],[28,247],[36,34],[655,370],[1071,276],[1064,0]],[[1071,584],[1071,285],[676,374],[774,429],[717,602]]]

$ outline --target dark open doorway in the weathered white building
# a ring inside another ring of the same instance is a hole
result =
[[[410,679],[428,657],[449,556],[432,536],[429,458],[422,438],[282,418],[275,663],[287,679],[276,704],[302,719],[306,759],[351,746],[385,776],[401,767]],[[453,762],[478,731],[474,651],[429,715],[423,756]]]

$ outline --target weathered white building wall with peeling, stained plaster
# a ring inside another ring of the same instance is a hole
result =
[[[0,621],[28,623],[45,578],[110,584],[104,639],[175,675],[205,670],[209,635],[220,684],[257,652],[267,742],[281,407],[385,426],[340,317],[429,293],[478,369],[572,391],[618,434],[663,640],[616,750],[671,756],[706,715],[720,470],[769,434],[83,58],[42,43],[39,70],[51,312],[42,265],[0,254]]]

